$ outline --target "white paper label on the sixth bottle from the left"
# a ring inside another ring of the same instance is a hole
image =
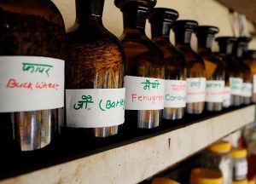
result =
[[[224,98],[224,81],[207,80],[206,101],[222,103]]]

